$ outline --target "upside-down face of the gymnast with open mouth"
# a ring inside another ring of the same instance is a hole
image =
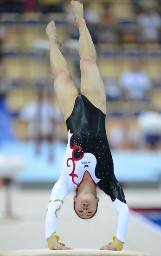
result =
[[[99,197],[95,197],[92,193],[79,193],[77,196],[74,195],[75,210],[77,215],[84,219],[89,219],[97,209],[97,202]]]

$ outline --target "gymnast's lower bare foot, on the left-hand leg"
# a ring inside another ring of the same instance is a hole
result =
[[[58,38],[57,29],[53,20],[47,25],[46,34],[48,38],[53,39],[59,47],[62,45],[62,41]]]

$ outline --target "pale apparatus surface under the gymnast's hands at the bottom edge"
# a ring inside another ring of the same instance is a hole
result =
[[[74,250],[33,249],[33,250],[0,251],[0,256],[51,256],[51,255],[152,256],[151,254],[146,252],[109,251],[109,250],[98,250],[98,249],[74,249]]]

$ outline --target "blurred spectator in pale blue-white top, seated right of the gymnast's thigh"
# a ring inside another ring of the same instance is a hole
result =
[[[124,71],[119,79],[125,100],[147,101],[148,91],[152,83],[148,74],[142,70],[141,62],[137,59],[131,61],[130,69]]]

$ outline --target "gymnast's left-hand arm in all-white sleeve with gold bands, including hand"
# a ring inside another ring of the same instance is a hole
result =
[[[68,183],[61,175],[52,189],[50,201],[46,210],[45,237],[49,249],[67,249],[64,243],[58,242],[60,237],[56,235],[56,227],[59,210],[62,208],[64,199],[69,192],[70,189]]]

